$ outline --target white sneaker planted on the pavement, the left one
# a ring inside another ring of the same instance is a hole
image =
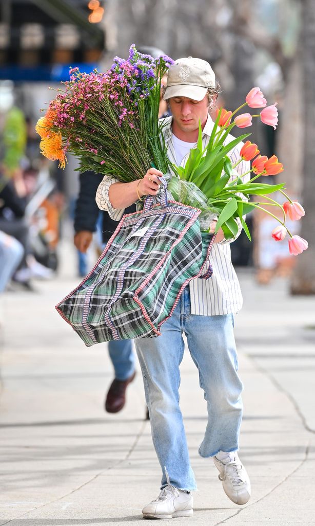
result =
[[[172,486],[167,471],[166,480],[167,486],[162,489],[159,497],[143,508],[143,519],[172,519],[193,515],[192,494]]]

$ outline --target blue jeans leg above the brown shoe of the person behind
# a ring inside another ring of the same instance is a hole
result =
[[[127,380],[134,372],[132,340],[109,341],[108,350],[114,367],[115,378]]]

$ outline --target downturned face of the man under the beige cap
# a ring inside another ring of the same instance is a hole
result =
[[[199,127],[199,119],[202,127],[208,118],[208,96],[202,100],[193,100],[188,97],[170,98],[170,107],[173,115],[173,131],[176,135],[177,127],[182,132],[192,132]]]

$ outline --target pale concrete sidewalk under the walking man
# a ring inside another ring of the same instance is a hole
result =
[[[1,298],[0,526],[138,524],[161,478],[142,379],[123,411],[103,411],[112,379],[106,345],[86,348],[54,309],[78,283],[65,270],[72,248],[62,253],[58,279],[38,282],[37,294]],[[315,525],[315,300],[289,297],[283,279],[257,287],[250,271],[239,277],[240,457],[252,498],[245,507],[229,501],[212,460],[198,457],[206,403],[185,352],[181,406],[198,491],[194,516],[176,524]]]

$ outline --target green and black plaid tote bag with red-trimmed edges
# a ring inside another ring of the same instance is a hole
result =
[[[95,267],[56,305],[87,346],[160,336],[183,289],[212,275],[214,236],[200,230],[197,208],[152,196],[124,215]],[[207,268],[207,270],[205,270]]]

